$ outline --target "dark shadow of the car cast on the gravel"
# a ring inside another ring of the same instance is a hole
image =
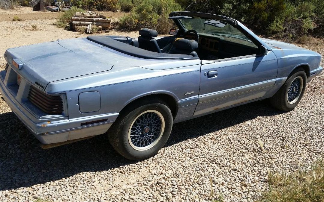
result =
[[[257,116],[281,113],[259,101],[174,124],[165,147]],[[110,170],[135,161],[121,158],[105,135],[43,150],[13,112],[0,114],[0,190],[29,187],[82,172]]]

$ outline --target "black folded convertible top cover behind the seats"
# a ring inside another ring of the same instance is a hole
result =
[[[182,54],[168,54],[168,53],[156,53],[135,46],[116,41],[110,36],[88,36],[88,40],[98,43],[100,45],[106,46],[108,48],[117,50],[121,53],[131,55],[137,58],[145,59],[199,59],[191,55]]]

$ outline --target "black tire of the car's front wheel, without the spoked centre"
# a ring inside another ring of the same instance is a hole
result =
[[[301,82],[303,83],[303,85],[301,88],[301,92],[299,93],[299,97],[297,96],[297,98],[295,98],[293,101],[291,101],[291,103],[289,103],[287,93],[290,85],[295,79],[302,79]],[[305,70],[302,68],[295,69],[290,74],[284,85],[276,92],[276,94],[274,94],[274,96],[270,98],[270,103],[272,104],[272,106],[282,111],[293,110],[304,95],[306,80],[307,76]]]

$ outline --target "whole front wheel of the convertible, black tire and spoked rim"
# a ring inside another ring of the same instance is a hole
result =
[[[270,98],[273,107],[283,110],[293,110],[304,95],[307,76],[304,69],[296,69],[284,85]]]

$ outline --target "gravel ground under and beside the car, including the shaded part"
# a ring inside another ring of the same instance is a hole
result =
[[[323,44],[304,47],[324,55]],[[268,169],[322,158],[323,86],[323,74],[307,83],[291,112],[259,101],[175,124],[166,146],[138,162],[118,155],[105,135],[42,150],[1,100],[0,201],[208,201],[209,177],[225,201],[257,200]]]

